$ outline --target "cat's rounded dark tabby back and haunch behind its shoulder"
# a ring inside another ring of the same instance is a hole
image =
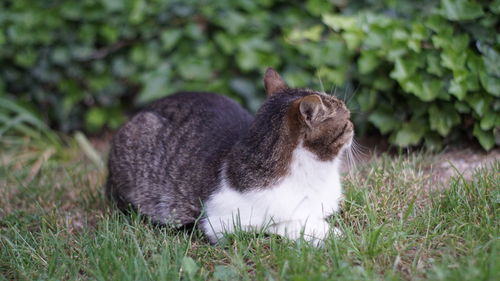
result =
[[[217,187],[222,158],[251,120],[240,105],[213,93],[181,92],[155,101],[113,138],[108,195],[160,223],[193,221]]]

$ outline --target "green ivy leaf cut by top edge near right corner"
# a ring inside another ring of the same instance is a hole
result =
[[[481,5],[471,0],[441,0],[441,13],[453,21],[472,20],[484,15]]]

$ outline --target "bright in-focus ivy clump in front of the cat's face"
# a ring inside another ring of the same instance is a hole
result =
[[[500,137],[499,13],[500,1],[443,0],[411,20],[358,13],[323,21],[355,56],[357,102],[391,143],[439,148],[472,132],[488,150]]]

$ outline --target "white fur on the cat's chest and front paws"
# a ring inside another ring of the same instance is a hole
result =
[[[339,155],[340,156],[340,155]],[[205,203],[202,228],[212,242],[237,229],[265,231],[321,243],[329,232],[325,217],[342,197],[339,158],[320,161],[298,146],[290,173],[276,185],[247,192],[232,188],[222,173],[221,188]]]

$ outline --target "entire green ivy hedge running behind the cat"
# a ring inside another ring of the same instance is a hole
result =
[[[255,110],[272,66],[293,86],[355,89],[358,128],[396,145],[498,144],[500,1],[402,2],[4,1],[0,95],[98,132],[178,90]]]

